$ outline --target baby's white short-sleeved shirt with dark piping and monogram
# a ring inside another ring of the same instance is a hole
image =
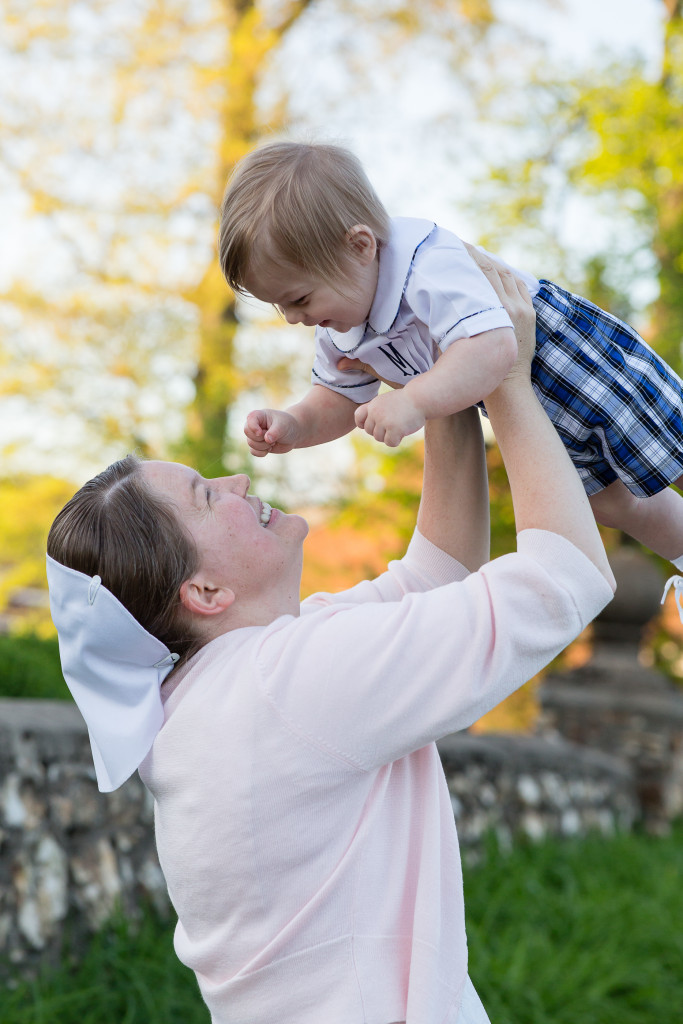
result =
[[[537,279],[516,272],[536,295]],[[403,384],[431,369],[439,349],[499,327],[512,322],[458,236],[432,220],[394,217],[389,242],[379,252],[368,323],[344,333],[316,328],[312,383],[360,404],[375,397],[379,382],[365,373],[340,373],[342,355]]]

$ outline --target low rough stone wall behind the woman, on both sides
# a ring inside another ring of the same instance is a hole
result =
[[[572,744],[533,736],[446,737],[439,750],[461,841],[503,842],[629,828],[631,770]],[[152,802],[135,775],[97,791],[75,705],[0,700],[0,972],[56,963],[63,926],[83,942],[117,906],[169,909]]]

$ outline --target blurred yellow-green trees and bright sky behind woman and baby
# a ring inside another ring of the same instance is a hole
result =
[[[680,372],[681,7],[1,0],[2,631],[51,636],[49,523],[133,450],[246,470],[305,512],[305,592],[377,570],[410,535],[419,437],[247,452],[246,412],[301,395],[312,353],[312,331],[236,303],[216,262],[225,180],[264,138],[350,146],[391,214],[583,293]],[[512,515],[495,446],[489,471],[497,554]],[[676,623],[645,654],[675,676]]]

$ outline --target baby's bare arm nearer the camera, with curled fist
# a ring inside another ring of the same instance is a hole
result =
[[[355,424],[376,440],[395,447],[426,420],[460,413],[485,398],[516,358],[512,328],[460,338],[439,355],[431,370],[414,377],[400,391],[379,394],[357,407]]]

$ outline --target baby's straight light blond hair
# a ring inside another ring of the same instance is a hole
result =
[[[360,161],[337,145],[269,142],[244,157],[220,209],[218,253],[228,285],[245,292],[255,250],[321,280],[348,272],[346,233],[367,224],[379,246],[389,216]]]

